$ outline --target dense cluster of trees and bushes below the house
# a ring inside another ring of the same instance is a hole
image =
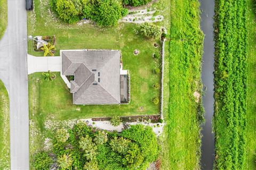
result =
[[[85,123],[58,129],[53,148],[38,152],[35,169],[146,169],[157,159],[159,147],[149,126],[132,125],[121,133],[94,130]]]

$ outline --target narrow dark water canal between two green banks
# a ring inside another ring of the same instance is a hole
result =
[[[202,63],[202,81],[206,88],[203,96],[205,108],[205,124],[202,126],[202,169],[213,169],[214,161],[214,138],[212,133],[213,117],[213,71],[214,71],[214,40],[213,40],[213,15],[214,0],[201,0],[201,29],[204,32],[204,55]]]

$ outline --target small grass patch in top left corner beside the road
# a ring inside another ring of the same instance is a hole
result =
[[[0,0],[0,39],[4,35],[7,27],[7,1]]]

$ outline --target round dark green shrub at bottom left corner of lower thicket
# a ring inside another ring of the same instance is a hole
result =
[[[48,170],[52,163],[52,159],[46,152],[39,152],[34,157],[34,166],[36,170]]]

